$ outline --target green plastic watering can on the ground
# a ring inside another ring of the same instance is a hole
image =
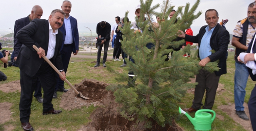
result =
[[[212,114],[207,113],[207,112],[212,112]],[[213,110],[210,109],[200,109],[197,112],[195,112],[195,118],[192,118],[188,113],[183,111],[181,107],[179,107],[179,113],[180,114],[185,114],[186,117],[188,117],[189,121],[194,125],[194,129],[196,131],[209,131],[212,129],[212,122],[214,121],[216,117],[216,113]]]

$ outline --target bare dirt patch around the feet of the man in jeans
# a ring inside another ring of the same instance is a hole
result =
[[[246,115],[250,118],[247,103],[244,103],[243,106],[244,106],[244,111],[245,111]],[[245,130],[253,131],[251,121],[243,120],[243,119],[239,118],[237,114],[235,114],[235,104],[218,106],[218,109],[221,109],[223,112],[226,112],[226,114],[228,114],[235,122],[242,125]]]

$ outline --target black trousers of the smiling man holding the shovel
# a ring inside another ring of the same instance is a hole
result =
[[[43,112],[53,110],[52,96],[56,84],[53,68],[44,61],[35,76],[28,76],[23,71],[20,71],[20,76],[21,99],[19,102],[19,117],[21,123],[29,122],[31,111],[30,106],[33,99],[33,92],[36,87],[37,79],[40,80],[44,91]]]

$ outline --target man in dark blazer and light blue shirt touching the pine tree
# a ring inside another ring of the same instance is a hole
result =
[[[219,60],[219,71],[209,73],[203,69],[199,70],[199,74],[197,74],[195,79],[198,85],[195,86],[193,105],[191,108],[183,109],[188,112],[195,112],[201,109],[205,90],[206,98],[203,109],[212,109],[220,75],[226,74],[225,55],[229,44],[229,33],[218,24],[219,14],[215,9],[206,11],[205,20],[208,25],[201,27],[197,36],[185,35],[183,31],[179,31],[181,34],[178,35],[179,37],[185,38],[185,41],[198,43],[198,57],[200,57],[199,65],[201,67],[204,67],[209,62]],[[212,49],[216,52],[210,52]]]

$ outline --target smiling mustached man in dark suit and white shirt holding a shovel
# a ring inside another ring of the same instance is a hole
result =
[[[33,130],[29,122],[30,106],[38,78],[44,90],[43,115],[61,112],[53,109],[52,105],[56,83],[54,70],[41,57],[46,56],[64,76],[61,79],[65,79],[60,54],[63,35],[58,29],[62,26],[64,17],[65,13],[62,10],[55,9],[49,16],[49,20],[34,19],[16,35],[22,43],[16,64],[20,68],[21,76],[20,121],[25,131]],[[33,45],[36,45],[40,52],[37,52]]]

